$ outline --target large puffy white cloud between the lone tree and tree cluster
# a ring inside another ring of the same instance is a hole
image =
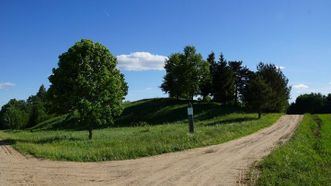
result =
[[[164,70],[166,56],[154,55],[149,52],[134,52],[116,56],[118,67],[128,71]]]

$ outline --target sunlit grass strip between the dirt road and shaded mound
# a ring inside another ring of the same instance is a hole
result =
[[[24,154],[69,161],[134,159],[161,153],[223,143],[272,125],[281,114],[233,113],[198,120],[196,133],[187,133],[187,122],[86,131],[0,131],[0,139],[13,143]]]

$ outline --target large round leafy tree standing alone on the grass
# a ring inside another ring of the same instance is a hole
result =
[[[127,93],[117,60],[100,43],[81,40],[59,57],[49,77],[52,103],[60,113],[78,112],[79,123],[89,131],[110,125],[121,114]]]

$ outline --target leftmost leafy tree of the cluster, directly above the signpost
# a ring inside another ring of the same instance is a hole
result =
[[[201,54],[193,46],[184,48],[183,53],[169,56],[165,62],[166,75],[161,89],[170,97],[192,100],[198,95],[202,81],[207,76],[208,68],[204,64]]]

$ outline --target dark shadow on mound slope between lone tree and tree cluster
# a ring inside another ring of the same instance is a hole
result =
[[[122,115],[116,120],[117,127],[139,126],[147,123],[158,125],[174,123],[187,119],[187,100],[172,98],[145,99],[130,103]],[[230,106],[221,106],[218,103],[193,101],[195,119],[202,121],[216,116],[226,115],[240,109]]]

